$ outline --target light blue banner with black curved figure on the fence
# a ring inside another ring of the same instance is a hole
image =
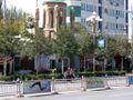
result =
[[[50,91],[51,91],[50,80],[23,82],[23,93],[39,93],[39,92],[50,92]]]

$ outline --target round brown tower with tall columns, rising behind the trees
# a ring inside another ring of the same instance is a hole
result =
[[[66,4],[64,2],[43,3],[43,32],[47,38],[55,38],[54,32],[65,24]]]

